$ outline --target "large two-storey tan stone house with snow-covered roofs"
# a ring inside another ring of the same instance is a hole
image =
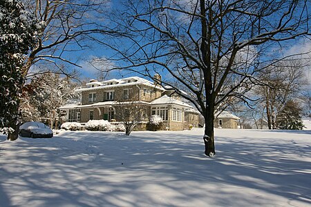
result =
[[[155,79],[160,80],[160,75],[155,75]],[[171,89],[159,86],[158,81],[151,82],[141,77],[107,81],[92,79],[86,83],[86,88],[78,89],[77,92],[82,94],[81,103],[67,104],[59,108],[66,111],[68,122],[86,123],[97,119],[114,123],[120,121],[115,115],[122,99],[123,101],[134,100],[146,106],[146,123],[151,115],[162,117],[164,130],[183,130],[189,128],[190,124],[198,126],[198,112],[173,94]],[[145,130],[147,124],[139,128]]]

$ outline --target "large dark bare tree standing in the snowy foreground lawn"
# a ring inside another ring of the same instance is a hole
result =
[[[122,68],[151,79],[154,72],[162,74],[160,84],[198,108],[205,117],[205,155],[213,156],[214,110],[231,97],[248,101],[245,92],[257,72],[283,58],[276,51],[310,34],[310,5],[310,0],[129,0],[115,12],[115,22],[132,35],[104,44],[128,63]]]

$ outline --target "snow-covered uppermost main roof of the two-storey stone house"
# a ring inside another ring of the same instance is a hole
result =
[[[133,80],[133,81],[128,83],[127,80]],[[107,85],[106,84],[106,83],[111,83],[111,82],[114,82],[115,84],[113,84],[113,85]],[[104,88],[113,89],[113,88],[123,87],[123,86],[135,86],[135,85],[138,85],[138,84],[142,84],[142,85],[145,85],[145,86],[151,86],[151,87],[157,88],[159,90],[165,90],[164,88],[162,88],[160,86],[153,85],[153,82],[151,82],[151,81],[149,81],[147,79],[143,79],[141,77],[127,77],[127,78],[124,78],[124,79],[110,79],[110,80],[103,81],[103,82],[100,82],[100,83],[102,83],[102,86],[95,86],[93,88],[80,88],[80,89],[77,89],[75,91],[76,92],[82,92],[82,91],[104,89]]]

